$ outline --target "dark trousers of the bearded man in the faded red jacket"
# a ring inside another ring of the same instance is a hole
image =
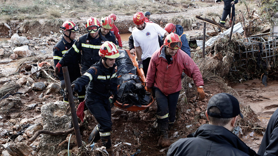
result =
[[[180,91],[166,96],[157,87],[153,87],[157,101],[157,123],[173,123],[176,119],[176,108]]]

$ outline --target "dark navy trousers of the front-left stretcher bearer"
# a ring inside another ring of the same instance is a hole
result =
[[[108,98],[100,100],[100,98],[93,99],[91,96],[88,96],[86,97],[85,104],[88,107],[89,111],[96,118],[96,121],[99,123],[98,128],[99,128],[100,136],[110,137],[110,132],[112,130],[112,121],[111,121],[111,106],[108,102]],[[106,133],[106,135],[103,135],[103,133]]]

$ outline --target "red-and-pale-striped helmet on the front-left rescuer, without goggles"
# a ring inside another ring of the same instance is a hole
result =
[[[116,59],[120,56],[118,47],[113,42],[105,41],[100,46],[100,51],[98,54],[102,57],[110,58],[110,59]]]

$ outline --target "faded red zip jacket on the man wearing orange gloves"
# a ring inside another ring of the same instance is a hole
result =
[[[147,74],[147,88],[153,86],[160,89],[166,96],[182,89],[182,72],[191,78],[197,87],[203,86],[201,72],[195,62],[182,50],[172,56],[173,61],[168,64],[164,48],[155,51],[152,55]]]

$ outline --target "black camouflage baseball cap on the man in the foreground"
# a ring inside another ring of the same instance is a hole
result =
[[[215,106],[220,109],[220,114],[209,112],[210,107]],[[243,119],[240,113],[239,101],[233,95],[227,93],[219,93],[212,96],[207,107],[207,114],[216,118],[232,118],[237,115]]]

